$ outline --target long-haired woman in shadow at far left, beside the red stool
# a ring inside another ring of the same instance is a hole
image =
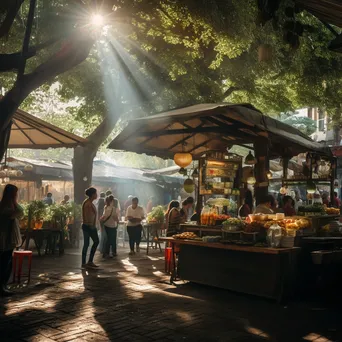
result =
[[[21,245],[18,219],[22,215],[23,209],[18,204],[18,188],[7,184],[0,202],[0,295],[4,297],[13,294],[7,289],[7,283],[12,271],[13,249]]]

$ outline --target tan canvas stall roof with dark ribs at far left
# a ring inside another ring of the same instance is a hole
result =
[[[75,147],[85,139],[18,109],[12,119],[9,148],[47,149]]]

